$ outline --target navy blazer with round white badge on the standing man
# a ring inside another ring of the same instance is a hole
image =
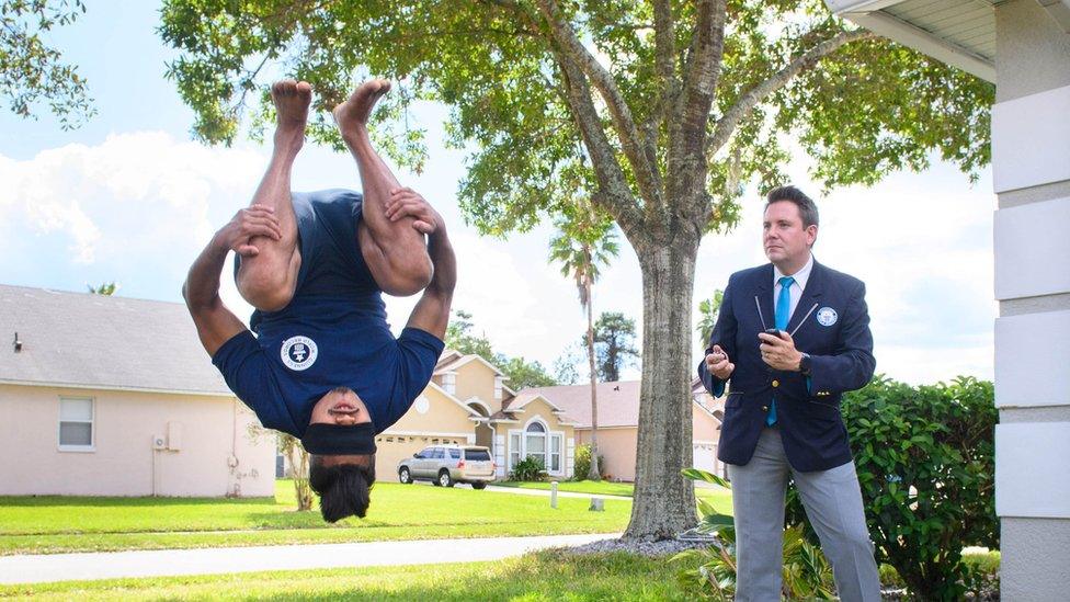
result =
[[[787,327],[788,332],[795,331],[795,348],[810,354],[808,388],[800,373],[775,371],[762,361],[758,333],[764,330],[763,320],[769,328],[775,323],[773,264],[728,279],[706,349],[708,355],[715,344],[720,345],[736,364],[728,379],[731,386],[718,445],[722,462],[750,462],[774,395],[784,451],[796,470],[827,470],[851,461],[847,430],[840,418],[841,394],[866,386],[876,367],[865,296],[865,284],[858,279],[813,262]],[[705,357],[698,377],[715,397],[724,393],[726,382],[709,374]]]

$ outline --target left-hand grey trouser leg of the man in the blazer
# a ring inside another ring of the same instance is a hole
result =
[[[754,456],[728,465],[736,516],[736,601],[781,599],[784,567],[784,495],[790,467],[781,433],[765,429]]]

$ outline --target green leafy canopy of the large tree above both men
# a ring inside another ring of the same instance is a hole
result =
[[[671,56],[669,46],[657,45],[663,30],[658,3],[623,0],[167,0],[159,32],[181,50],[168,75],[196,113],[195,135],[206,141],[231,141],[247,102],[266,99],[268,65],[311,82],[320,110],[369,72],[400,80],[403,92],[387,107],[380,137],[390,143],[391,158],[417,169],[425,159],[422,130],[406,123],[407,107],[418,100],[445,103],[447,141],[471,150],[462,206],[483,231],[504,235],[561,213],[577,191],[600,188],[596,161],[568,100],[562,45],[540,11],[547,4],[606,68],[650,141],[658,171],[671,174],[673,120],[654,117],[664,111],[667,88],[671,100],[688,84],[698,16],[693,2],[668,3]],[[707,133],[716,148],[706,149],[708,195],[699,202],[708,207],[698,212],[705,229],[737,223],[747,182],[782,183],[793,145],[815,159],[815,175],[828,186],[872,184],[897,169],[921,169],[933,152],[972,174],[988,162],[993,87],[873,37],[807,65],[733,127],[724,127],[722,136],[718,125],[735,116],[733,106],[749,92],[851,29],[819,0],[732,0],[725,21]],[[659,57],[673,78],[659,75]],[[595,106],[604,129],[613,132],[610,107]],[[257,111],[270,116],[270,107]],[[318,115],[311,136],[337,145],[326,113]],[[633,197],[650,204],[657,194],[640,185],[619,136],[611,135],[610,143]]]

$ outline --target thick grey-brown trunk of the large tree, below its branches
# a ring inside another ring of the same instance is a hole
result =
[[[691,303],[698,240],[637,248],[642,270],[642,385],[627,539],[668,539],[697,523],[692,465]]]

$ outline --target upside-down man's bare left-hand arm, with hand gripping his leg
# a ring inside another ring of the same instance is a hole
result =
[[[257,247],[249,243],[254,236],[280,240],[278,219],[270,207],[253,205],[239,211],[201,251],[182,285],[182,297],[208,355],[215,355],[223,343],[246,330],[246,325],[219,298],[219,273],[231,249],[242,257],[259,253]]]

